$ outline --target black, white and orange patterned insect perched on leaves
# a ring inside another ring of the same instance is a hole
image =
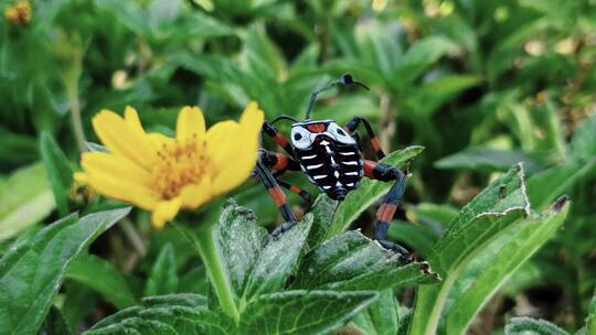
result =
[[[305,120],[281,115],[272,122],[264,122],[262,134],[269,136],[287,153],[286,155],[260,149],[255,169],[256,174],[286,220],[273,234],[277,236],[291,228],[297,221],[280,186],[298,194],[309,204],[312,202],[311,194],[279,180],[279,176],[286,171],[304,171],[309,181],[317,185],[321,192],[339,202],[343,201],[350,191],[358,187],[362,177],[393,182],[393,186],[376,212],[374,238],[384,248],[392,249],[409,260],[409,252],[404,247],[387,240],[389,225],[402,199],[406,175],[397,168],[364,158],[360,137],[355,133],[360,125],[364,126],[371,145],[376,153],[376,159],[381,160],[385,156],[369,121],[355,117],[345,127],[340,127],[333,120],[310,119],[312,107],[321,91],[337,86],[350,85],[358,85],[369,89],[364,84],[355,82],[351,75],[347,74],[311,94]],[[290,141],[274,127],[274,123],[279,120],[291,120],[294,122],[291,125]]]

